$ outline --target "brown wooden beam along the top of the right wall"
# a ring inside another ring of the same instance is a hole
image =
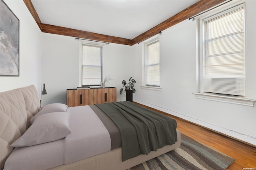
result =
[[[158,24],[154,28],[151,28],[150,30],[135,37],[134,39],[132,39],[132,45],[138,42],[142,42],[143,40],[146,40],[147,38],[158,34],[160,31],[166,30],[167,28],[170,28],[171,26],[187,20],[188,18],[195,16],[196,14],[204,12],[205,10],[208,10],[224,1],[225,0],[200,0],[192,6],[172,16],[168,20],[165,20],[164,22]]]

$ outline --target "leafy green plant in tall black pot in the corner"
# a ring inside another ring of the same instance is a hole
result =
[[[124,88],[121,88],[119,93],[122,94],[123,90],[126,92],[126,101],[132,102],[132,94],[136,92],[134,88],[135,83],[136,81],[132,77],[129,79],[129,83],[126,83],[125,80],[122,81]]]

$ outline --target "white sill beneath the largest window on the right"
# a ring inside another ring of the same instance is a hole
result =
[[[242,96],[226,96],[221,94],[213,94],[213,93],[193,93],[195,98],[205,99],[205,100],[213,100],[217,102],[225,102],[232,104],[240,104],[244,106],[253,106],[256,100],[248,99]]]

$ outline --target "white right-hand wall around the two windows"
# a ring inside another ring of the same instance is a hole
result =
[[[246,95],[256,99],[256,1],[246,1]],[[196,99],[196,21],[186,20],[160,36],[162,91],[141,89],[142,46],[132,46],[134,101],[256,145],[256,103],[242,106]]]

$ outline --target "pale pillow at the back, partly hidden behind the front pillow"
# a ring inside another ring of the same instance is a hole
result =
[[[34,119],[42,114],[52,113],[52,112],[66,112],[68,106],[62,103],[52,103],[45,105],[34,117],[30,119],[31,124],[33,124]]]

